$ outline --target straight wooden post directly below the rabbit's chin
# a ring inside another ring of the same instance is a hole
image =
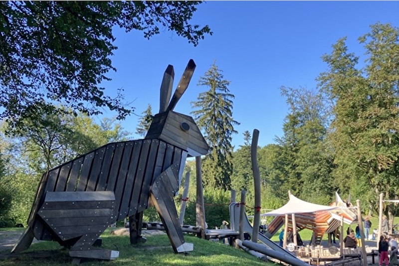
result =
[[[197,226],[201,227],[201,238],[205,239],[206,222],[205,222],[205,207],[203,203],[201,156],[196,157],[196,172],[197,172],[197,203],[196,203]]]

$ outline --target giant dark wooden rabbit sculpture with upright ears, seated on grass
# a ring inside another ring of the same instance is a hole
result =
[[[173,201],[187,156],[208,152],[194,120],[173,112],[196,65],[190,60],[172,100],[174,70],[161,85],[160,112],[145,139],[104,145],[43,174],[28,228],[13,252],[27,249],[33,237],[58,241],[79,258],[115,259],[119,252],[92,245],[108,225],[129,217],[130,240],[141,239],[142,212],[154,204],[175,253],[193,250],[185,243]],[[169,105],[168,105],[169,103]]]

